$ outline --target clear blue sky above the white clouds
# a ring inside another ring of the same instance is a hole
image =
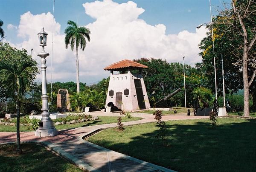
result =
[[[87,25],[95,21],[92,17],[84,15],[83,3],[95,0],[55,0],[54,17],[61,24],[61,32],[67,26],[67,20],[78,21],[79,25]],[[140,19],[148,24],[166,25],[167,34],[177,34],[187,30],[195,32],[195,27],[210,20],[209,0],[133,0],[138,7],[145,9]],[[126,3],[128,0],[114,0],[117,3]],[[222,6],[222,0],[211,0],[212,14],[216,15],[215,8]],[[51,12],[53,0],[1,0],[0,19],[6,35],[12,34],[7,30],[7,24],[19,25],[20,15],[30,11],[32,14]],[[16,42],[15,35],[8,35]],[[8,38],[6,38],[8,39]]]

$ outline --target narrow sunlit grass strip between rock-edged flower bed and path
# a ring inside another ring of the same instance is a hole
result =
[[[122,122],[136,121],[136,120],[142,119],[139,117],[132,117],[130,119],[125,118],[125,116],[121,116],[121,117],[122,117]],[[56,125],[55,128],[57,130],[62,130],[62,129],[72,129],[72,128],[78,128],[78,127],[87,127],[91,125],[111,124],[111,123],[117,123],[116,116],[99,116],[98,120],[80,122],[76,124]],[[16,131],[16,126],[0,125],[0,132],[15,132],[15,131]],[[33,130],[29,130],[28,126],[20,126],[20,131],[33,131]]]

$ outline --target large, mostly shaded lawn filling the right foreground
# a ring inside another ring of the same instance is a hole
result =
[[[168,146],[156,141],[155,123],[103,130],[88,141],[177,171],[243,171],[256,169],[256,120],[218,118],[166,121]]]

